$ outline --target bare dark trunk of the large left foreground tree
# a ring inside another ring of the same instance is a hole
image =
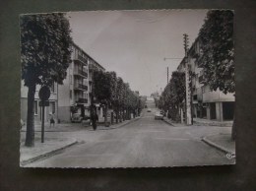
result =
[[[27,132],[26,132],[26,141],[25,146],[33,147],[34,146],[34,93],[35,85],[29,87],[28,92],[28,114],[27,114]]]

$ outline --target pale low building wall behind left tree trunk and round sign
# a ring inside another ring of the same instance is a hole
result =
[[[40,86],[37,85],[35,87],[34,94],[34,122],[35,124],[41,122],[42,119],[42,109],[39,106],[39,96],[38,92],[40,90]],[[54,83],[52,87],[50,87],[50,97],[49,97],[49,106],[46,106],[44,109],[44,119],[45,121],[49,121],[50,115],[54,114],[55,116],[58,114],[57,108],[57,85]],[[28,113],[28,87],[24,86],[24,81],[21,81],[21,119],[26,123],[27,122],[27,113]]]

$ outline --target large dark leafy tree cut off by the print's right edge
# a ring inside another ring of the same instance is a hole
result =
[[[228,10],[209,11],[199,32],[203,55],[200,63],[204,68],[205,84],[210,90],[227,93],[235,92],[233,12]],[[232,139],[234,139],[234,124]]]

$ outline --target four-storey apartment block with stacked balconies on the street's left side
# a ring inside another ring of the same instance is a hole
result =
[[[105,70],[75,43],[72,50],[67,77],[58,86],[58,119],[67,122],[74,112],[90,115],[93,70]]]

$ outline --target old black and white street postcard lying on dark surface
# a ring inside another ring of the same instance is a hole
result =
[[[233,17],[20,15],[20,166],[235,164]]]

